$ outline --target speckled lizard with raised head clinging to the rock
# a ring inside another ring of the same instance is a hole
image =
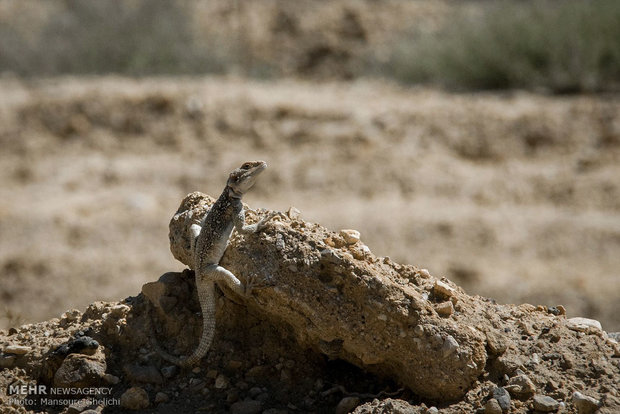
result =
[[[254,277],[249,277],[245,286],[228,269],[219,265],[228,245],[233,229],[241,234],[256,233],[265,227],[277,212],[271,213],[255,224],[245,224],[245,211],[241,198],[254,185],[256,178],[267,168],[264,161],[249,161],[233,170],[228,176],[226,187],[200,223],[190,226],[190,249],[196,280],[198,301],[202,311],[202,334],[198,347],[187,357],[175,357],[151,342],[164,360],[181,367],[199,362],[209,351],[215,334],[215,283],[224,282],[236,294],[247,296],[255,287]]]

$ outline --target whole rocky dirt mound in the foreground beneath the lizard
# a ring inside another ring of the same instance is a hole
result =
[[[205,214],[212,201],[194,193],[180,210]],[[170,230],[182,259],[189,228],[179,219]],[[618,343],[596,321],[566,319],[561,306],[469,296],[293,210],[260,234],[234,236],[222,265],[242,277],[267,272],[273,286],[247,301],[220,296],[215,341],[199,366],[179,370],[151,348],[156,335],[188,354],[202,325],[192,272],[167,273],[121,303],[2,331],[2,404],[18,412],[7,390],[36,384],[108,390],[91,407],[108,404],[105,412],[620,409]],[[35,410],[59,398],[41,388],[23,394]],[[68,410],[84,409],[84,400]]]

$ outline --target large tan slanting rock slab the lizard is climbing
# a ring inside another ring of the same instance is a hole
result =
[[[189,213],[202,217],[213,201],[192,193],[171,221],[171,250],[185,264]],[[273,284],[248,306],[289,326],[302,346],[396,378],[428,398],[457,399],[482,374],[484,331],[438,315],[427,297],[445,295],[427,290],[415,267],[375,258],[361,244],[288,216],[231,246],[224,267]],[[464,297],[455,288],[450,299],[459,304]]]

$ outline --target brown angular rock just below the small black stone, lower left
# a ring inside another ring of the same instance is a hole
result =
[[[70,354],[54,374],[54,387],[85,388],[106,384],[102,354]]]

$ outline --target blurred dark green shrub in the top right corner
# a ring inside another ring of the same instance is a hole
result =
[[[456,89],[617,89],[620,1],[499,2],[394,46],[387,73]]]

